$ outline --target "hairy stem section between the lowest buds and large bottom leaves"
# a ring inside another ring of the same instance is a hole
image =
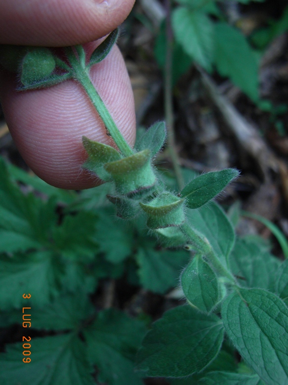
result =
[[[179,228],[182,233],[189,239],[189,241],[191,241],[201,252],[203,252],[203,254],[219,274],[228,278],[230,282],[235,283],[235,278],[216,257],[208,241],[203,240],[198,234],[196,234],[195,231],[186,222],[184,222],[184,224]]]

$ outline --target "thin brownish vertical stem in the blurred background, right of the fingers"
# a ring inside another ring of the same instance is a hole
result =
[[[165,78],[164,78],[164,93],[165,93],[165,120],[167,124],[167,142],[168,151],[172,161],[175,177],[178,188],[184,187],[183,177],[180,168],[178,154],[175,149],[174,135],[174,118],[173,118],[173,102],[172,102],[172,48],[173,48],[173,33],[171,29],[171,9],[170,0],[165,0],[166,7],[166,57],[165,57]]]

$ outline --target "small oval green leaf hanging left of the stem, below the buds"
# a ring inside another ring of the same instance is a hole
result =
[[[183,271],[181,286],[188,301],[204,313],[210,313],[220,299],[217,276],[200,254]]]

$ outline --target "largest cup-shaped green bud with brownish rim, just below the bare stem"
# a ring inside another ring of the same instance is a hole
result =
[[[148,149],[107,163],[104,168],[112,176],[117,192],[122,195],[138,198],[150,192],[156,183]]]

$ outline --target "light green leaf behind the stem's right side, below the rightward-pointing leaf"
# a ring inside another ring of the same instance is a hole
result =
[[[187,210],[187,218],[194,231],[209,241],[215,255],[227,266],[235,234],[223,210],[216,203],[210,202],[199,209]]]

